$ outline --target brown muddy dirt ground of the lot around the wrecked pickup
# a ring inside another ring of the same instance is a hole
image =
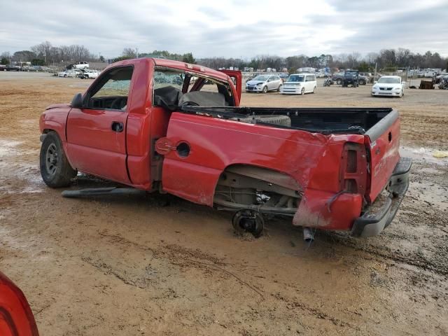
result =
[[[407,197],[378,237],[288,221],[260,239],[233,235],[231,215],[154,195],[75,200],[38,171],[38,116],[90,80],[0,73],[0,269],[31,304],[41,335],[448,335],[448,90],[372,98],[370,86],[245,106],[393,106]],[[101,186],[80,176],[76,187]]]

